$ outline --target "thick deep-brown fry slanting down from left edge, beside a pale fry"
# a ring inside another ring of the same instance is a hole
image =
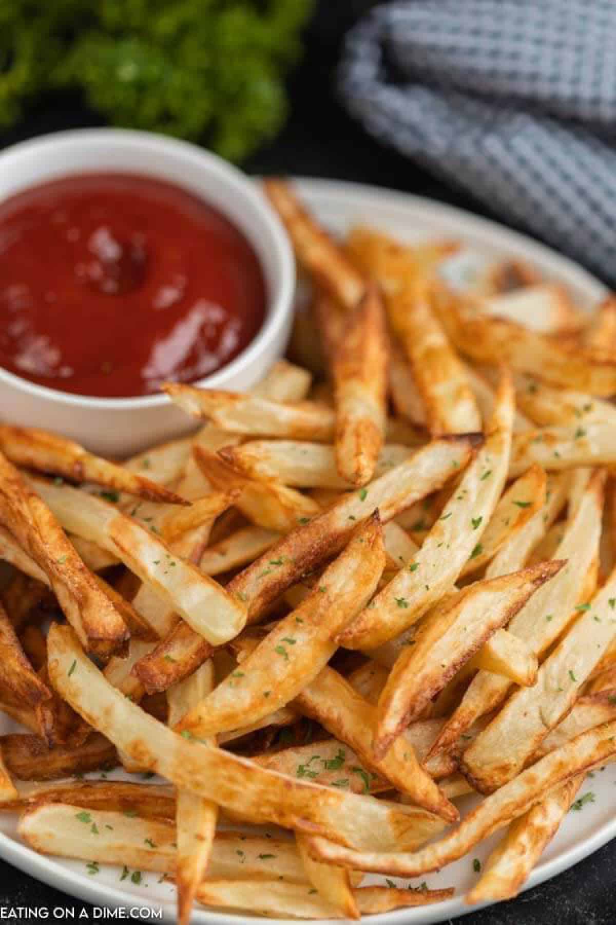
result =
[[[126,623],[79,559],[52,512],[2,453],[0,519],[47,576],[82,643],[98,655],[120,648],[128,637]]]

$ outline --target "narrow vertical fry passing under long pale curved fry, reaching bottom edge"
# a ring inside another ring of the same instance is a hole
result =
[[[168,690],[169,725],[173,727],[181,722],[203,697],[211,693],[213,686],[213,665],[206,661],[197,672]],[[214,740],[210,744],[214,745]],[[210,862],[218,807],[211,800],[189,790],[178,790],[175,799],[177,920],[180,925],[187,925],[199,882]]]

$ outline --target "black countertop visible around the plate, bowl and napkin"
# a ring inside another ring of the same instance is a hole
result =
[[[336,103],[332,66],[340,38],[370,6],[375,6],[374,0],[320,0],[307,32],[307,54],[290,80],[293,111],[287,127],[276,142],[251,159],[248,170],[374,183],[489,215],[465,193],[444,187],[404,157],[381,148]],[[53,105],[45,101],[18,129],[0,135],[0,146],[47,131],[98,124],[99,120],[84,110],[79,100],[54,100]],[[470,913],[464,922],[552,925],[558,920],[559,925],[613,925],[615,876],[616,842],[516,900]],[[68,907],[75,909],[76,920],[82,909],[91,909],[3,861],[0,861],[0,884],[0,907]]]

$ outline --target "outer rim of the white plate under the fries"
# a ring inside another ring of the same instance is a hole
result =
[[[439,200],[420,196],[416,193],[393,190],[386,186],[358,183],[348,180],[324,179],[317,177],[291,177],[298,191],[306,197],[308,204],[323,198],[333,201],[344,201],[347,206],[363,201],[372,203],[377,213],[379,208],[386,206],[388,210],[399,212],[404,219],[405,213],[413,212],[419,219],[425,216],[429,224],[439,220],[446,225],[453,225],[453,236],[464,235],[465,240],[490,240],[489,250],[503,253],[518,253],[528,257],[547,271],[549,277],[563,282],[578,293],[586,293],[584,298],[588,305],[598,302],[608,290],[598,277],[588,272],[569,257],[563,256],[548,245],[537,241],[521,231],[508,228],[490,218],[478,216],[468,209],[460,208]],[[367,224],[384,224],[379,222],[378,215],[370,216]],[[496,247],[494,247],[496,245]],[[484,240],[484,247],[486,246]],[[579,844],[571,845],[558,857],[539,863],[525,882],[521,892],[537,886],[539,883],[550,880],[564,870],[569,870],[576,863],[594,854],[602,845],[606,845],[616,837],[616,817],[606,820],[598,829],[588,835]],[[175,895],[169,901],[149,900],[146,896],[127,893],[123,889],[103,882],[89,879],[82,873],[67,869],[51,855],[40,855],[25,843],[18,840],[18,835],[12,837],[0,832],[0,858],[23,870],[35,880],[44,882],[54,889],[60,890],[69,896],[91,903],[99,907],[152,907],[163,910],[163,921],[175,921]],[[392,912],[371,916],[370,922],[376,925],[436,925],[441,921],[468,915],[481,908],[495,905],[490,902],[467,906],[464,894],[458,894],[451,899],[434,906],[402,908]],[[146,919],[147,920],[147,919]],[[161,919],[154,919],[161,920]],[[196,925],[237,925],[241,921],[254,921],[244,913],[213,910],[197,907],[191,919]],[[297,919],[270,919],[277,925],[296,925]],[[309,920],[307,920],[309,921]],[[336,925],[342,919],[330,919],[329,925]],[[328,925],[328,921],[320,919],[320,925]]]

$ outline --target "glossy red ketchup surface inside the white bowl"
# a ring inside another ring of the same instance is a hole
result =
[[[54,180],[0,203],[0,365],[79,395],[149,395],[229,363],[265,282],[224,216],[170,183]]]

